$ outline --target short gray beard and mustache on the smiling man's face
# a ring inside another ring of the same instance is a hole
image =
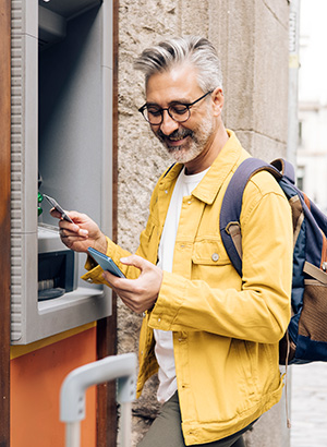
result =
[[[203,122],[195,129],[177,129],[169,136],[159,129],[154,132],[160,143],[166,147],[170,157],[178,162],[186,164],[194,160],[206,147],[214,134],[214,119],[208,111]],[[180,146],[169,145],[169,140],[179,141],[187,137]]]

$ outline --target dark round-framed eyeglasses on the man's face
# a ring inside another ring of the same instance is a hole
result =
[[[196,102],[204,99],[207,95],[213,93],[214,90],[207,92],[201,98],[195,99],[195,101],[191,104],[183,104],[183,102],[172,102],[169,107],[158,107],[158,106],[148,106],[145,104],[144,106],[140,107],[138,111],[143,114],[145,120],[153,125],[159,125],[164,121],[164,110],[168,111],[170,118],[172,118],[177,122],[185,122],[191,117],[191,107],[194,106]]]

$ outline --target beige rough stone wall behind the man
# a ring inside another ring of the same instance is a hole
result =
[[[123,247],[136,250],[153,188],[169,166],[165,149],[137,112],[144,84],[133,58],[168,36],[208,37],[225,74],[226,125],[253,155],[270,160],[286,155],[288,8],[287,0],[120,0],[118,242]],[[142,316],[118,301],[119,352],[136,351]],[[134,404],[134,443],[156,414],[155,388],[156,378]],[[247,446],[287,447],[283,411],[281,403],[262,418]]]

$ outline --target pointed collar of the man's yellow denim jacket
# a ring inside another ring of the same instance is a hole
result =
[[[227,133],[229,135],[228,142],[222,147],[204,179],[192,193],[195,197],[208,205],[214,203],[228,174],[233,170],[234,166],[238,165],[243,150],[234,132],[227,130]],[[168,184],[173,185],[182,168],[182,164],[175,164],[170,167],[164,176],[161,188],[165,189]]]

